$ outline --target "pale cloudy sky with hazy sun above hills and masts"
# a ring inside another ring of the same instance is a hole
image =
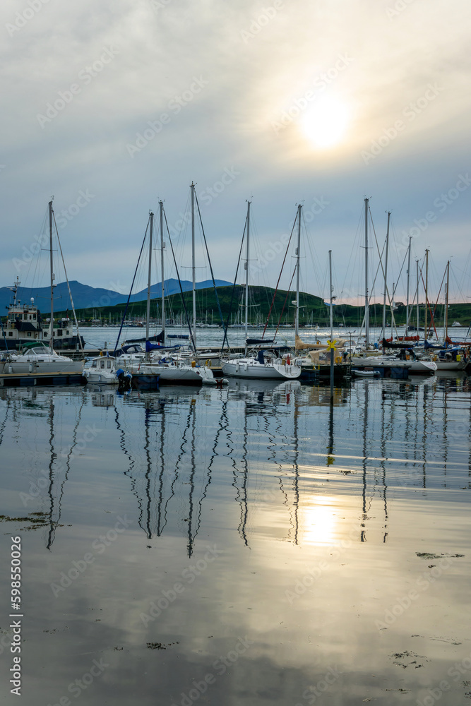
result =
[[[395,299],[412,236],[411,292],[429,249],[430,298],[450,260],[450,301],[468,301],[466,0],[3,0],[0,15],[0,286],[38,276],[52,196],[70,280],[126,292],[160,199],[191,278],[194,182],[218,279],[234,280],[251,201],[249,279],[274,286],[300,203],[302,289],[328,296],[331,250],[335,296],[361,301],[368,197],[370,293],[390,211]],[[199,230],[196,261],[208,279]],[[166,263],[174,276],[168,244]]]

